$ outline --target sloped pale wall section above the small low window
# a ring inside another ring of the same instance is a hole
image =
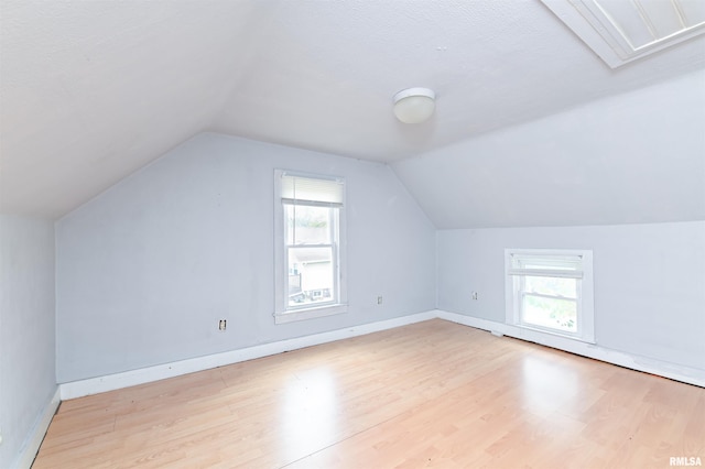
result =
[[[701,70],[392,167],[440,229],[703,220],[704,129]]]

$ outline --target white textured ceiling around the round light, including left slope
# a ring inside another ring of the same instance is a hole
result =
[[[57,217],[198,132],[399,162],[705,67],[611,69],[539,0],[2,0],[0,211]],[[404,126],[392,96],[436,91]]]

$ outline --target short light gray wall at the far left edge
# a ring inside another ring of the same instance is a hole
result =
[[[54,222],[0,215],[0,467],[20,451],[56,392]]]

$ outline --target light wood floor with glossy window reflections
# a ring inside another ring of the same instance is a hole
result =
[[[705,390],[434,319],[62,403],[42,468],[705,463]]]

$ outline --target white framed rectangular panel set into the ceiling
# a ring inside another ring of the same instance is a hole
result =
[[[705,33],[703,0],[541,0],[612,68]]]

